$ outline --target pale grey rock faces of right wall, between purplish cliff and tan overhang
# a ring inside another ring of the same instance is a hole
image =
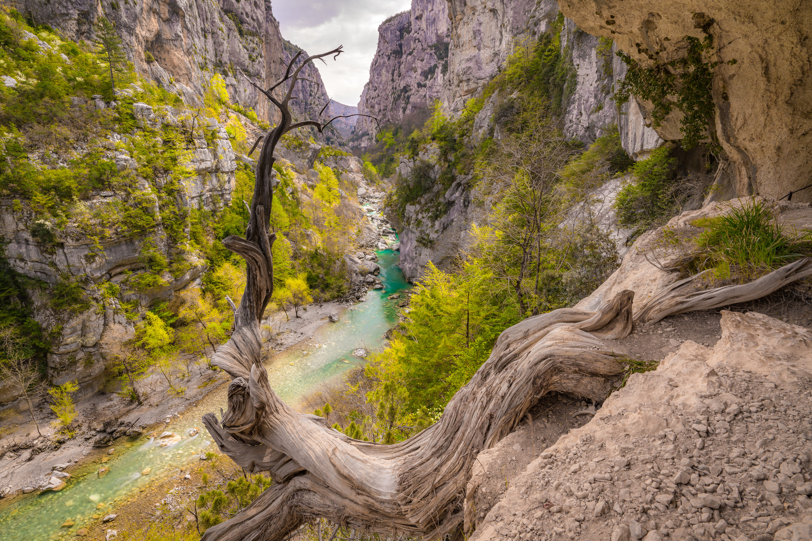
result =
[[[447,0],[447,6],[451,43],[448,73],[439,99],[444,112],[452,117],[459,114],[470,98],[482,95],[516,45],[533,43],[542,32],[549,32],[559,15],[558,4],[551,0]],[[569,71],[559,117],[565,135],[589,144],[603,135],[607,127],[617,124],[621,144],[633,157],[646,157],[651,149],[663,144],[656,132],[646,126],[636,101],[620,108],[615,105],[613,94],[625,74],[625,65],[615,58],[611,44],[605,50],[598,37],[583,32],[571,19],[564,19],[559,40]],[[391,41],[387,41],[387,46],[393,46]],[[374,74],[371,76],[370,87],[375,81]],[[390,84],[391,88],[396,86]],[[477,114],[474,121],[477,137],[492,128],[498,101],[498,94],[493,94]],[[430,154],[426,156],[430,158]],[[410,168],[410,163],[403,162],[400,174],[408,174]],[[467,246],[469,226],[477,220],[480,210],[472,206],[475,197],[466,187],[465,178],[459,181],[447,192],[430,191],[421,200],[425,204],[418,201],[410,205],[404,220],[399,222],[400,266],[410,279],[420,277],[429,260],[440,268],[448,268],[460,249]],[[449,209],[443,217],[433,220],[425,209],[436,199]]]

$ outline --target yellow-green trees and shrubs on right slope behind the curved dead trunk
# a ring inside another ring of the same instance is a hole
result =
[[[558,35],[553,28],[518,47],[456,118],[436,106],[408,136],[384,131],[387,144],[370,155],[384,173],[399,156],[412,160],[411,174],[395,181],[387,200],[412,226],[447,212],[440,195],[454,182],[475,194],[486,215],[453,271],[428,265],[390,346],[352,372],[343,389],[311,398],[322,415],[328,403],[330,423],[353,437],[391,443],[433,423],[504,328],[571,306],[618,263],[615,244],[591,221],[588,194],[631,161],[616,129],[585,151],[559,130],[570,68]],[[473,131],[494,95],[499,140]],[[417,216],[407,216],[408,205],[417,205]]]

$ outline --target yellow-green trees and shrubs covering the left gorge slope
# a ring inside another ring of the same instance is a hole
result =
[[[217,195],[208,204],[184,202],[197,174],[190,168],[196,140],[205,140],[220,158],[222,135],[201,118],[217,118],[238,152],[250,146],[249,123],[268,126],[253,111],[231,103],[220,75],[210,79],[203,105],[189,109],[178,95],[117,61],[114,95],[105,50],[32,27],[13,9],[0,13],[0,42],[2,72],[14,79],[0,85],[0,197],[6,212],[26,226],[46,259],[53,260],[68,239],[92,247],[84,256],[91,265],[106,256],[104,245],[110,241],[134,238],[140,246],[139,264],[123,280],[96,283],[67,273],[52,285],[24,277],[6,260],[16,255],[6,253],[0,260],[0,325],[13,329],[22,346],[13,348],[15,359],[37,367],[37,379],[45,376],[45,355],[61,325],[86,311],[112,308],[136,326],[136,336],[125,343],[124,337],[111,338],[114,376],[123,380],[123,393],[142,401],[138,382],[151,366],[182,393],[188,367],[181,359],[209,355],[231,328],[225,296],[240,298],[244,261],[220,241],[244,234],[243,201],[251,200],[254,182],[251,168],[238,161],[231,203]],[[141,120],[136,103],[151,106],[162,122]],[[301,142],[289,138],[288,144]],[[336,152],[326,148],[325,155]],[[276,165],[281,183],[271,209],[271,228],[279,235],[271,310],[310,296],[336,298],[348,288],[341,255],[358,231],[339,189],[354,187],[337,170],[316,167],[319,181],[311,190],[296,187],[290,165]],[[216,182],[223,188],[227,178],[218,174]],[[53,261],[50,265],[56,268]],[[174,313],[166,303],[149,301],[156,298],[153,292],[196,266],[205,268],[202,286],[179,294]],[[41,328],[33,317],[33,298],[40,295],[51,299],[52,328]],[[0,351],[0,362],[11,351]]]

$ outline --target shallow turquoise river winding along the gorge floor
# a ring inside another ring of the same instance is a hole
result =
[[[339,314],[339,322],[322,324],[312,338],[274,355],[266,363],[274,390],[292,406],[319,384],[363,363],[352,356],[352,351],[359,347],[380,348],[383,333],[397,323],[395,305],[400,300],[387,297],[411,286],[397,266],[396,252],[382,250],[377,254],[382,290],[369,291],[365,302]],[[102,466],[99,460],[69,468],[71,479],[61,492],[23,496],[2,509],[0,541],[75,539],[76,530],[93,520],[93,515],[115,513],[117,504],[132,498],[147,483],[181,478],[200,460],[201,453],[211,450],[212,440],[200,419],[207,412],[219,417],[220,408],[226,409],[226,387],[224,384],[214,389],[162,429],[182,436],[179,442],[161,447],[151,437],[128,442],[123,438],[103,464],[109,469],[106,475],[97,474]],[[192,436],[193,429],[202,430]],[[149,472],[143,474],[147,468]],[[74,526],[62,527],[68,519]],[[110,528],[115,528],[114,522]]]

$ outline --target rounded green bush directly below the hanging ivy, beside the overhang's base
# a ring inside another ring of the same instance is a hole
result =
[[[660,147],[633,165],[633,180],[624,184],[615,200],[620,224],[647,229],[675,213],[678,202],[668,196],[668,179],[676,159],[670,156],[670,148]]]

